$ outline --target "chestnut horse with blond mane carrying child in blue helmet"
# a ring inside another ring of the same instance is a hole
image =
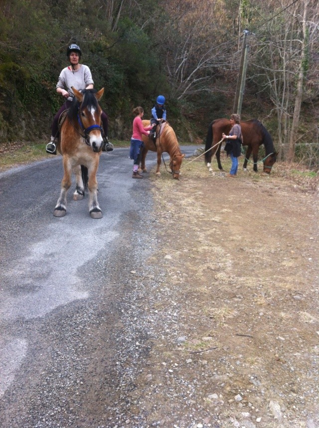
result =
[[[150,120],[143,120],[143,126],[150,126]],[[168,122],[162,122],[156,129],[156,142],[146,135],[142,135],[144,147],[142,149],[141,170],[147,172],[145,166],[145,158],[149,150],[158,153],[158,167],[156,175],[160,176],[160,156],[163,152],[167,152],[170,156],[169,167],[173,178],[179,178],[179,169],[183,160],[184,154],[179,149],[179,144],[173,128]]]

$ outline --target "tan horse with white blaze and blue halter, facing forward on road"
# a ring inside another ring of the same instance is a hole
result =
[[[72,86],[74,100],[60,129],[58,151],[63,156],[64,175],[60,197],[54,208],[55,217],[66,214],[66,195],[71,186],[72,172],[76,176],[76,190],[73,199],[84,198],[89,188],[89,213],[92,218],[101,218],[97,192],[96,173],[99,166],[103,139],[101,135],[101,112],[98,100],[104,88],[96,92],[85,89],[79,92]]]

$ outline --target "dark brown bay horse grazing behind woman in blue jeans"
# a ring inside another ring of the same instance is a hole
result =
[[[243,145],[248,146],[245,161],[243,164],[244,170],[246,170],[247,162],[253,152],[254,160],[254,171],[257,172],[257,158],[258,150],[261,144],[265,146],[266,157],[263,159],[264,162],[264,172],[270,174],[271,168],[277,160],[277,152],[275,151],[273,140],[270,136],[270,133],[267,131],[265,126],[256,119],[240,121],[241,132],[243,135]],[[205,151],[210,147],[217,145],[218,141],[222,139],[222,133],[226,135],[229,134],[231,129],[231,124],[229,119],[216,119],[213,120],[209,125],[207,137],[206,137],[206,146]],[[205,153],[205,161],[207,166],[210,166],[211,158],[214,153],[216,153],[216,160],[218,163],[218,168],[223,169],[220,163],[220,147],[221,144],[212,148],[207,153]]]

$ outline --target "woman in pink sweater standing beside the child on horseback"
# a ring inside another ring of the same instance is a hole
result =
[[[149,135],[150,129],[152,129],[153,126],[147,126],[146,128],[143,126],[142,117],[144,115],[144,110],[142,107],[136,107],[133,113],[136,117],[133,120],[133,135],[130,147],[130,159],[134,159],[132,178],[143,178],[143,175],[138,172],[143,147],[142,134]]]

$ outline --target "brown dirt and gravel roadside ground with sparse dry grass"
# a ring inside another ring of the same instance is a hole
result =
[[[130,411],[150,427],[319,427],[318,178],[189,161],[154,179],[148,263],[165,281]]]

